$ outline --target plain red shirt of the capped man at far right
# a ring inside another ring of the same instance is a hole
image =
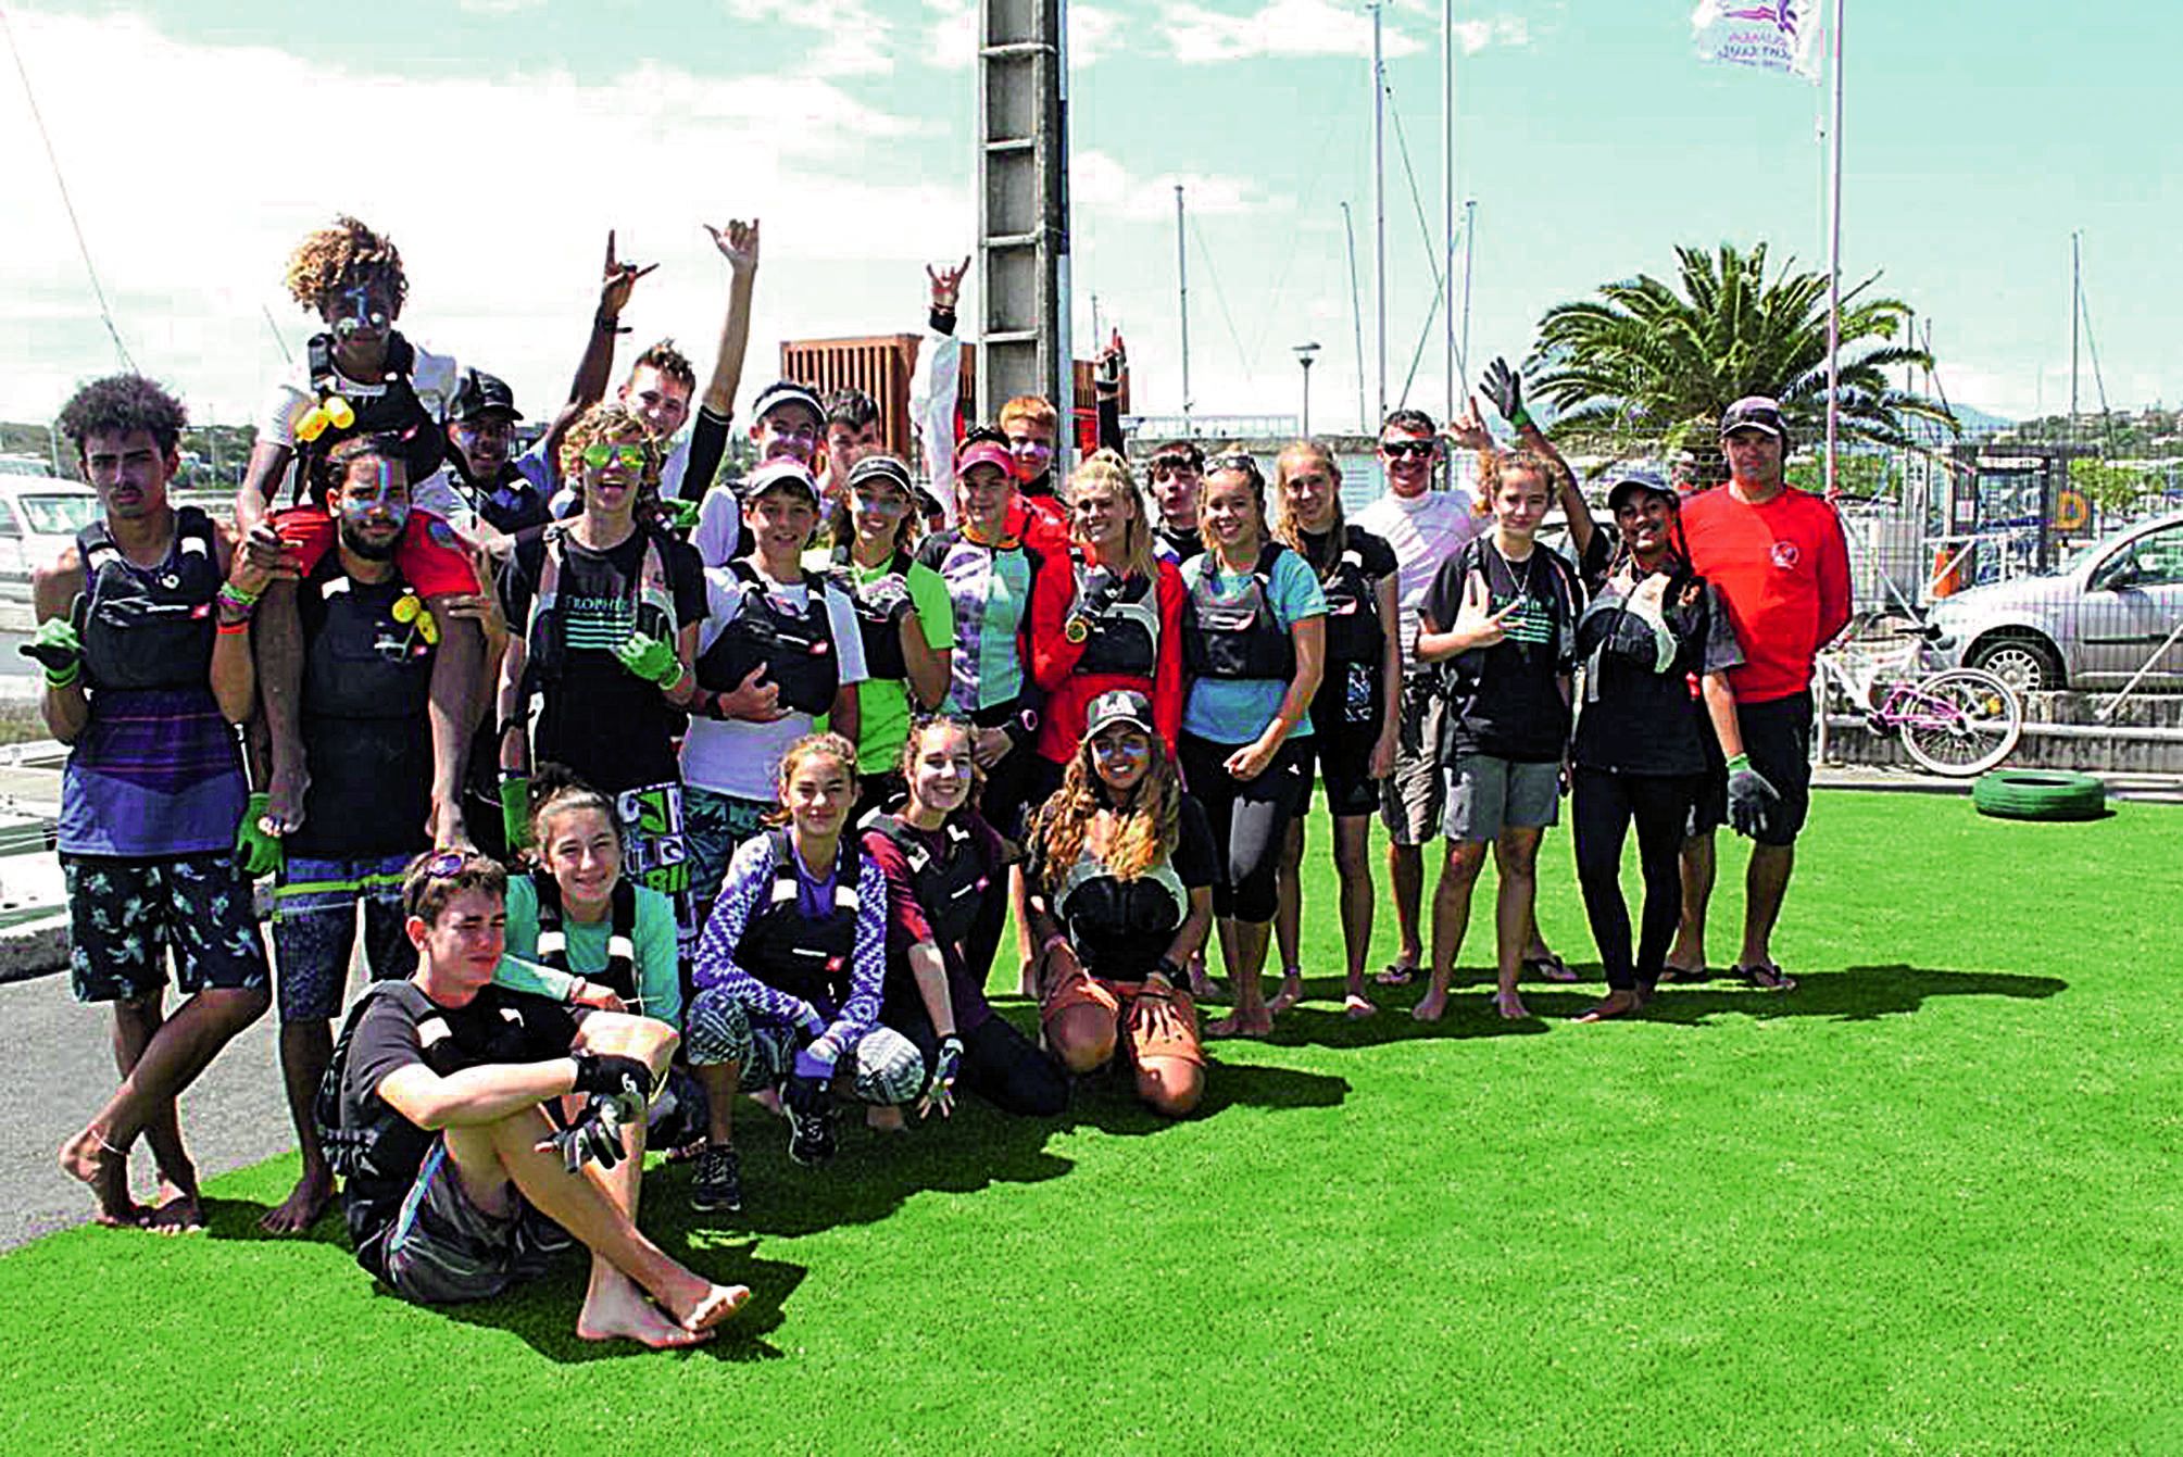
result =
[[[1738,703],[1812,686],[1812,658],[1849,625],[1849,542],[1825,500],[1784,487],[1766,505],[1720,485],[1683,502],[1690,566],[1720,588],[1744,649]]]

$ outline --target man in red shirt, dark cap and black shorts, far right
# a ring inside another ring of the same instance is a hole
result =
[[[1683,841],[1683,926],[1668,968],[1705,972],[1705,907],[1714,893],[1714,830],[1751,834],[1744,944],[1735,974],[1768,992],[1797,983],[1768,941],[1781,915],[1812,789],[1812,660],[1849,625],[1849,544],[1818,496],[1781,481],[1788,430],[1766,395],[1720,415],[1729,483],[1683,507],[1690,566],[1729,605],[1744,662],[1729,668],[1744,754],[1714,778]]]

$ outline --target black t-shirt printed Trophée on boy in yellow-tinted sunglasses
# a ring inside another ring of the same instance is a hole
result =
[[[705,568],[696,550],[666,533],[653,540],[659,542],[677,631],[701,623]],[[633,588],[627,583],[635,583],[644,570],[644,542],[642,526],[605,553],[581,546],[574,535],[561,540],[559,601],[568,647],[557,679],[548,682],[533,671],[533,684],[546,697],[533,762],[568,765],[609,795],[681,778],[675,762],[681,714],[655,684],[624,668],[611,647],[600,647],[624,642],[633,631]],[[515,553],[500,572],[500,603],[515,633],[524,633],[530,620],[530,596],[544,561],[541,529],[515,537]]]

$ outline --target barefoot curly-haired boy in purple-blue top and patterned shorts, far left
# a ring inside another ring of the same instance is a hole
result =
[[[142,376],[85,384],[61,408],[100,513],[31,579],[39,625],[22,649],[46,668],[39,712],[68,745],[57,841],[70,979],[76,1000],[114,1003],[122,1073],[61,1147],[61,1169],[92,1186],[100,1223],[162,1230],[201,1223],[175,1097],[271,1000],[236,867],[247,789],[231,727],[251,712],[249,649],[234,625],[264,574],[227,588],[229,540],[203,511],[168,502],[183,424],[181,404]],[[175,1016],[164,1009],[168,952],[188,998]],[[129,1195],[138,1134],[170,1195],[157,1210]]]

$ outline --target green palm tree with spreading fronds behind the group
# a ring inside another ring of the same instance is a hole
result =
[[[1722,242],[1709,253],[1679,247],[1681,291],[1639,273],[1605,284],[1598,299],[1556,304],[1539,321],[1530,389],[1554,404],[1556,435],[1661,452],[1711,448],[1720,411],[1744,395],[1773,395],[1803,441],[1825,435],[1827,275],[1790,260],[1766,282],[1766,245],[1749,253]],[[1866,277],[1842,295],[1838,433],[1873,446],[1912,443],[1910,422],[1954,430],[1945,404],[1895,389],[1886,371],[1932,367],[1908,339],[1910,308],[1866,299]]]

